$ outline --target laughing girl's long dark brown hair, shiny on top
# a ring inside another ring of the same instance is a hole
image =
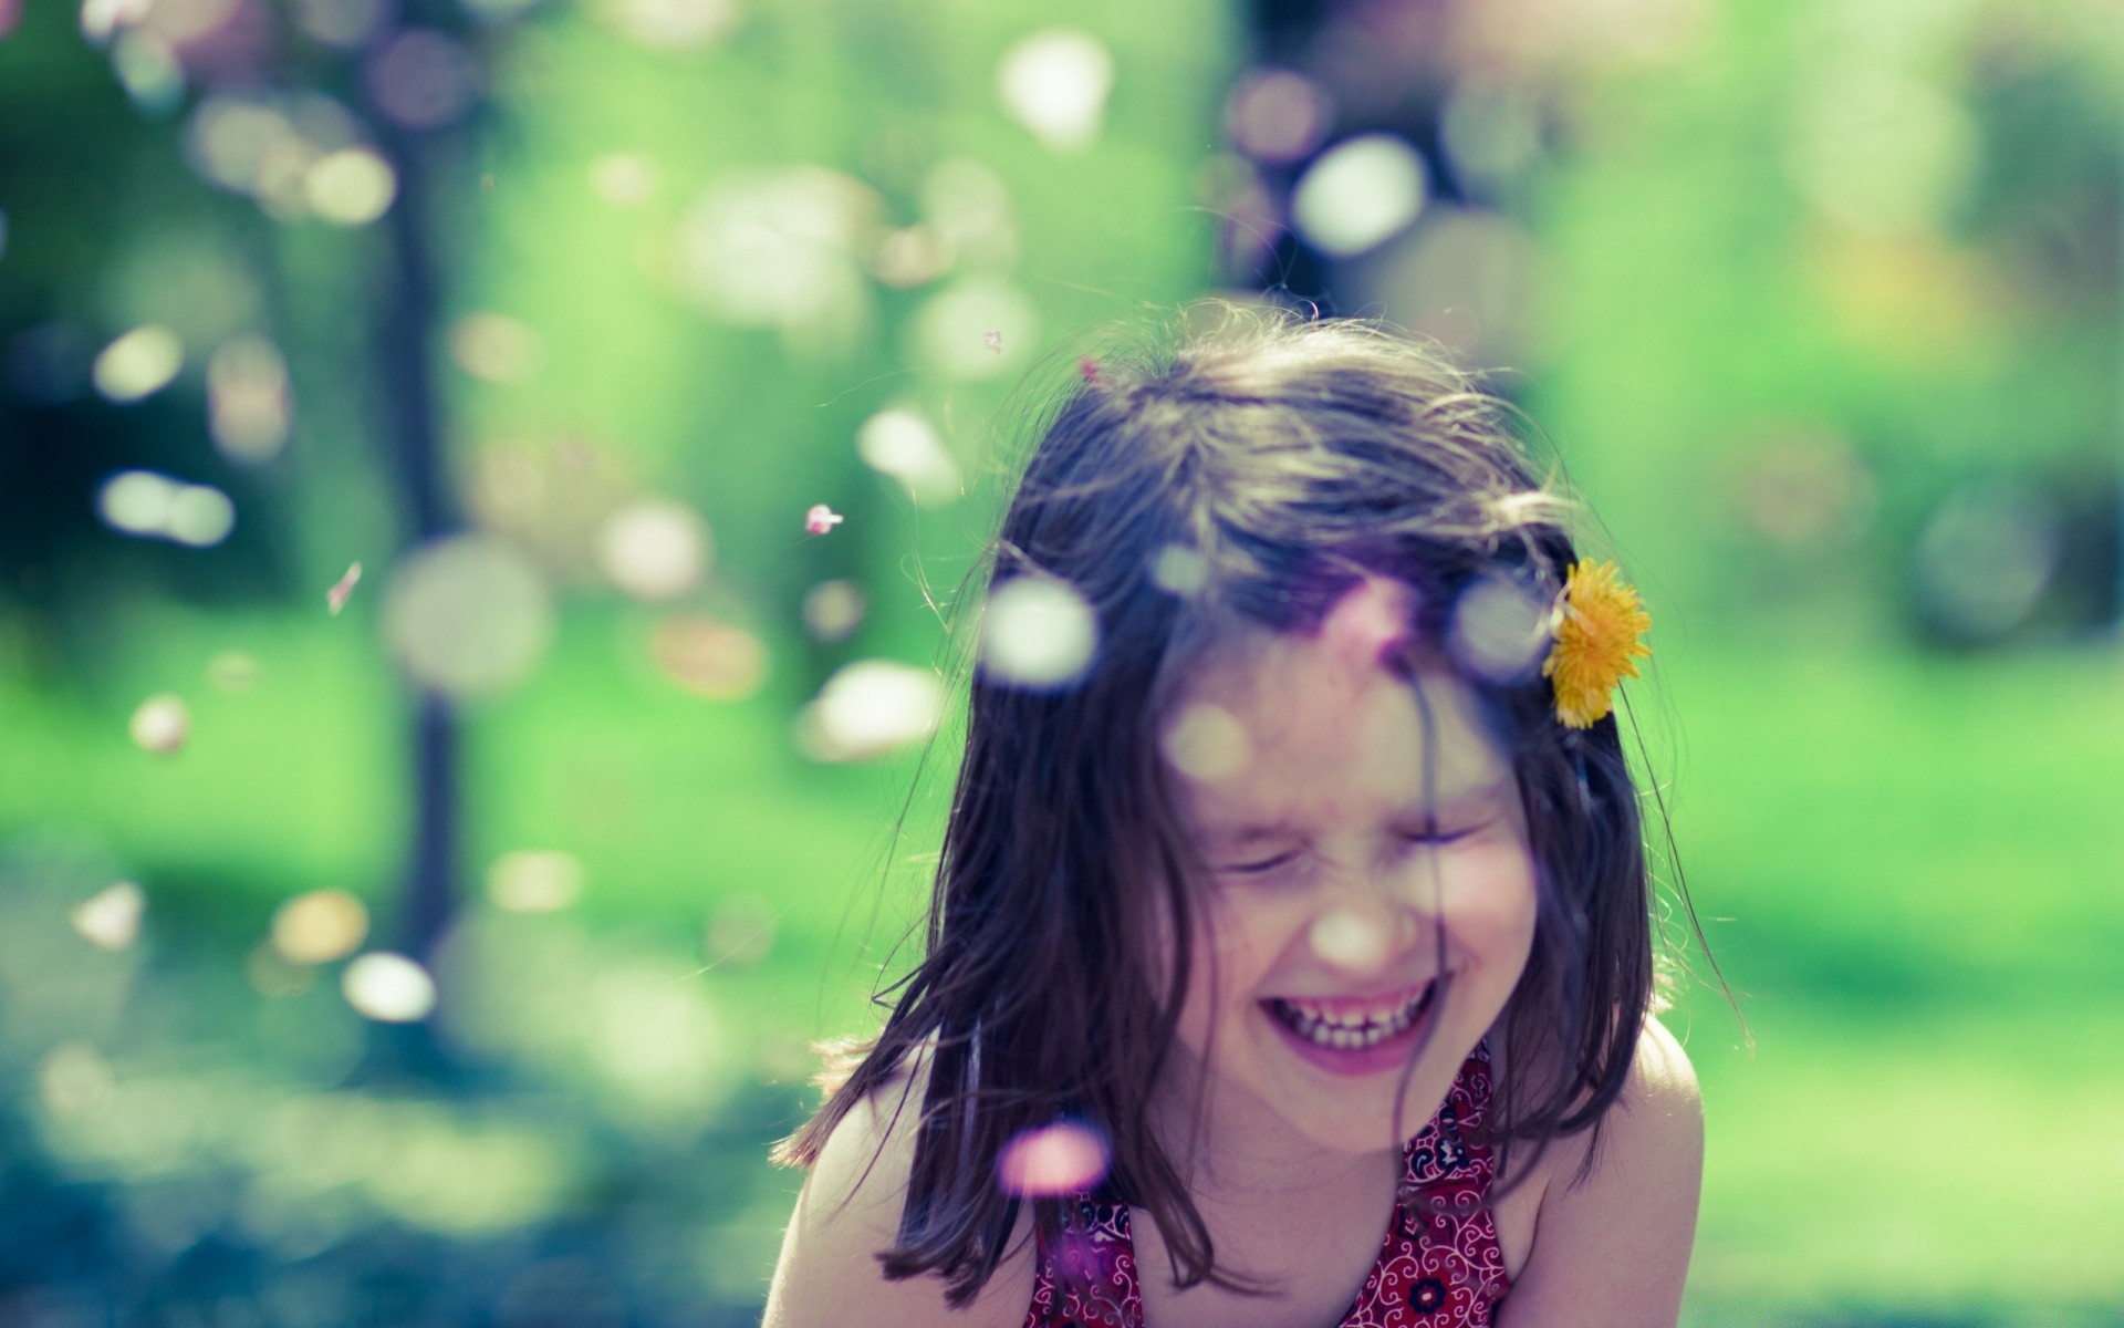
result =
[[[996,1271],[1026,1203],[996,1156],[1064,1116],[1109,1135],[1107,1184],[1155,1215],[1181,1283],[1228,1281],[1147,1120],[1194,963],[1192,929],[1158,926],[1194,916],[1200,880],[1158,744],[1187,667],[1234,623],[1319,627],[1364,576],[1410,586],[1417,640],[1442,644],[1478,578],[1548,603],[1576,559],[1517,412],[1440,355],[1370,323],[1219,308],[1206,331],[1187,319],[1098,351],[1037,431],[990,589],[1066,582],[1096,614],[1096,657],[1051,691],[975,676],[926,952],[777,1150],[813,1162],[856,1103],[924,1060],[898,1243],[879,1260],[943,1277],[954,1305]],[[1540,882],[1493,1139],[1538,1150],[1614,1103],[1655,997],[1638,793],[1614,716],[1565,729],[1538,669],[1468,682],[1512,756]],[[1051,1239],[1064,1201],[1030,1203]]]

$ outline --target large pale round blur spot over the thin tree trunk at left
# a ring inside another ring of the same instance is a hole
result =
[[[384,635],[399,663],[450,697],[520,682],[552,640],[546,582],[486,535],[455,535],[401,561],[384,589]]]

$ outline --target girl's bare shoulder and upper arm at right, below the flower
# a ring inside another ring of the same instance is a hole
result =
[[[1623,1096],[1601,1118],[1593,1171],[1574,1184],[1585,1147],[1555,1150],[1534,1249],[1497,1326],[1674,1328],[1703,1186],[1703,1101],[1659,1020],[1644,1020]]]

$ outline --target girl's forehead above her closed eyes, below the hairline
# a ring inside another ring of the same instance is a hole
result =
[[[1228,733],[1223,761],[1175,737]],[[1249,629],[1202,659],[1166,716],[1183,812],[1206,829],[1355,822],[1497,793],[1510,761],[1474,688],[1446,671],[1395,676],[1317,635]]]

